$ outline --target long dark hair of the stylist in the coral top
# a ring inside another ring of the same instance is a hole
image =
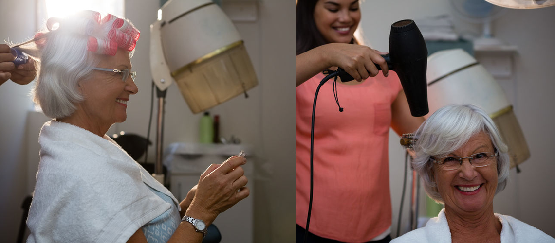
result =
[[[298,0],[297,1],[297,55],[317,46],[327,44],[314,22],[314,8],[318,0]],[[358,43],[353,37],[351,44]]]

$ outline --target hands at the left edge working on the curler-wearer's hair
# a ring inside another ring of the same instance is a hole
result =
[[[33,59],[26,64],[16,66],[12,63],[16,59],[7,44],[0,44],[0,85],[11,79],[17,84],[29,84],[36,76]]]

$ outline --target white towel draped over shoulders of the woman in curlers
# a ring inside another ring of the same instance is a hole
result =
[[[112,139],[49,121],[27,225],[28,242],[125,242],[179,202]]]

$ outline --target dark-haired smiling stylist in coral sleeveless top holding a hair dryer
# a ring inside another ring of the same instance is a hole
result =
[[[341,67],[356,81],[319,92],[314,127],[314,198],[309,242],[388,242],[391,195],[388,131],[415,131],[397,75],[380,51],[354,33],[359,0],[299,0],[296,6],[296,224],[305,234],[310,197],[310,130],[314,95],[326,69]],[[379,23],[388,24],[388,23]],[[387,38],[387,37],[384,37]],[[375,64],[379,64],[382,75]],[[338,105],[344,112],[338,111]]]

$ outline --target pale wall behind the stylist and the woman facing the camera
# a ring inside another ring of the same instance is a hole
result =
[[[418,11],[415,11],[418,9]],[[388,50],[390,25],[400,19],[418,19],[428,15],[451,14],[450,1],[366,1],[362,4],[361,26],[367,40],[375,49]],[[480,26],[463,22],[455,17],[458,33],[480,33]],[[522,172],[511,170],[506,189],[494,200],[496,213],[512,215],[528,224],[555,236],[555,164],[549,151],[555,136],[553,122],[555,112],[555,80],[551,70],[555,66],[552,23],[555,23],[555,7],[514,10],[510,9],[497,19],[493,35],[504,42],[516,45],[514,77],[500,80],[521,125],[531,152],[531,158],[521,164]],[[393,206],[392,232],[397,229],[398,207],[401,199],[403,150],[398,137],[390,132],[390,181]],[[408,194],[407,196],[408,197]],[[405,201],[405,205],[408,200]],[[408,220],[407,210],[403,220]],[[423,213],[422,213],[423,214]]]

